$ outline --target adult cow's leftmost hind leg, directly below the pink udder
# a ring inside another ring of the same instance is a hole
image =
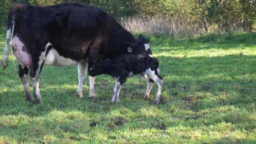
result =
[[[27,101],[33,101],[30,91],[29,91],[29,75],[28,75],[29,69],[27,67],[24,67],[22,69],[21,65],[19,65],[19,77],[21,78],[21,82],[27,97]]]

